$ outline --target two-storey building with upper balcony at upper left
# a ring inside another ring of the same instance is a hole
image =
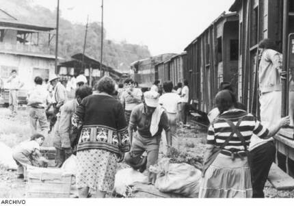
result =
[[[17,70],[24,83],[18,92],[20,103],[25,103],[27,91],[34,87],[34,77],[48,79],[49,74],[55,72],[55,55],[49,48],[54,29],[23,23],[0,10],[0,77],[5,88],[0,103],[8,103],[7,80],[12,70]],[[41,38],[45,38],[46,43],[41,42]]]

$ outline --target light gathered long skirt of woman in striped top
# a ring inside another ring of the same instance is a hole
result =
[[[251,198],[252,185],[247,157],[219,154],[200,183],[200,198]]]

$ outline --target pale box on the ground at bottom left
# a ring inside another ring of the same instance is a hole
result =
[[[72,175],[60,168],[27,167],[27,197],[68,198],[71,183]]]

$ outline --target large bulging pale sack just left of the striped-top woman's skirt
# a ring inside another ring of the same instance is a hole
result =
[[[156,171],[155,171],[156,172]],[[201,171],[186,164],[171,164],[168,159],[159,163],[155,187],[160,192],[198,197]]]

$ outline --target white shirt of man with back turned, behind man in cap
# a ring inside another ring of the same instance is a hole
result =
[[[159,104],[168,113],[176,114],[178,112],[178,103],[181,103],[181,97],[176,93],[165,93],[159,96]]]

